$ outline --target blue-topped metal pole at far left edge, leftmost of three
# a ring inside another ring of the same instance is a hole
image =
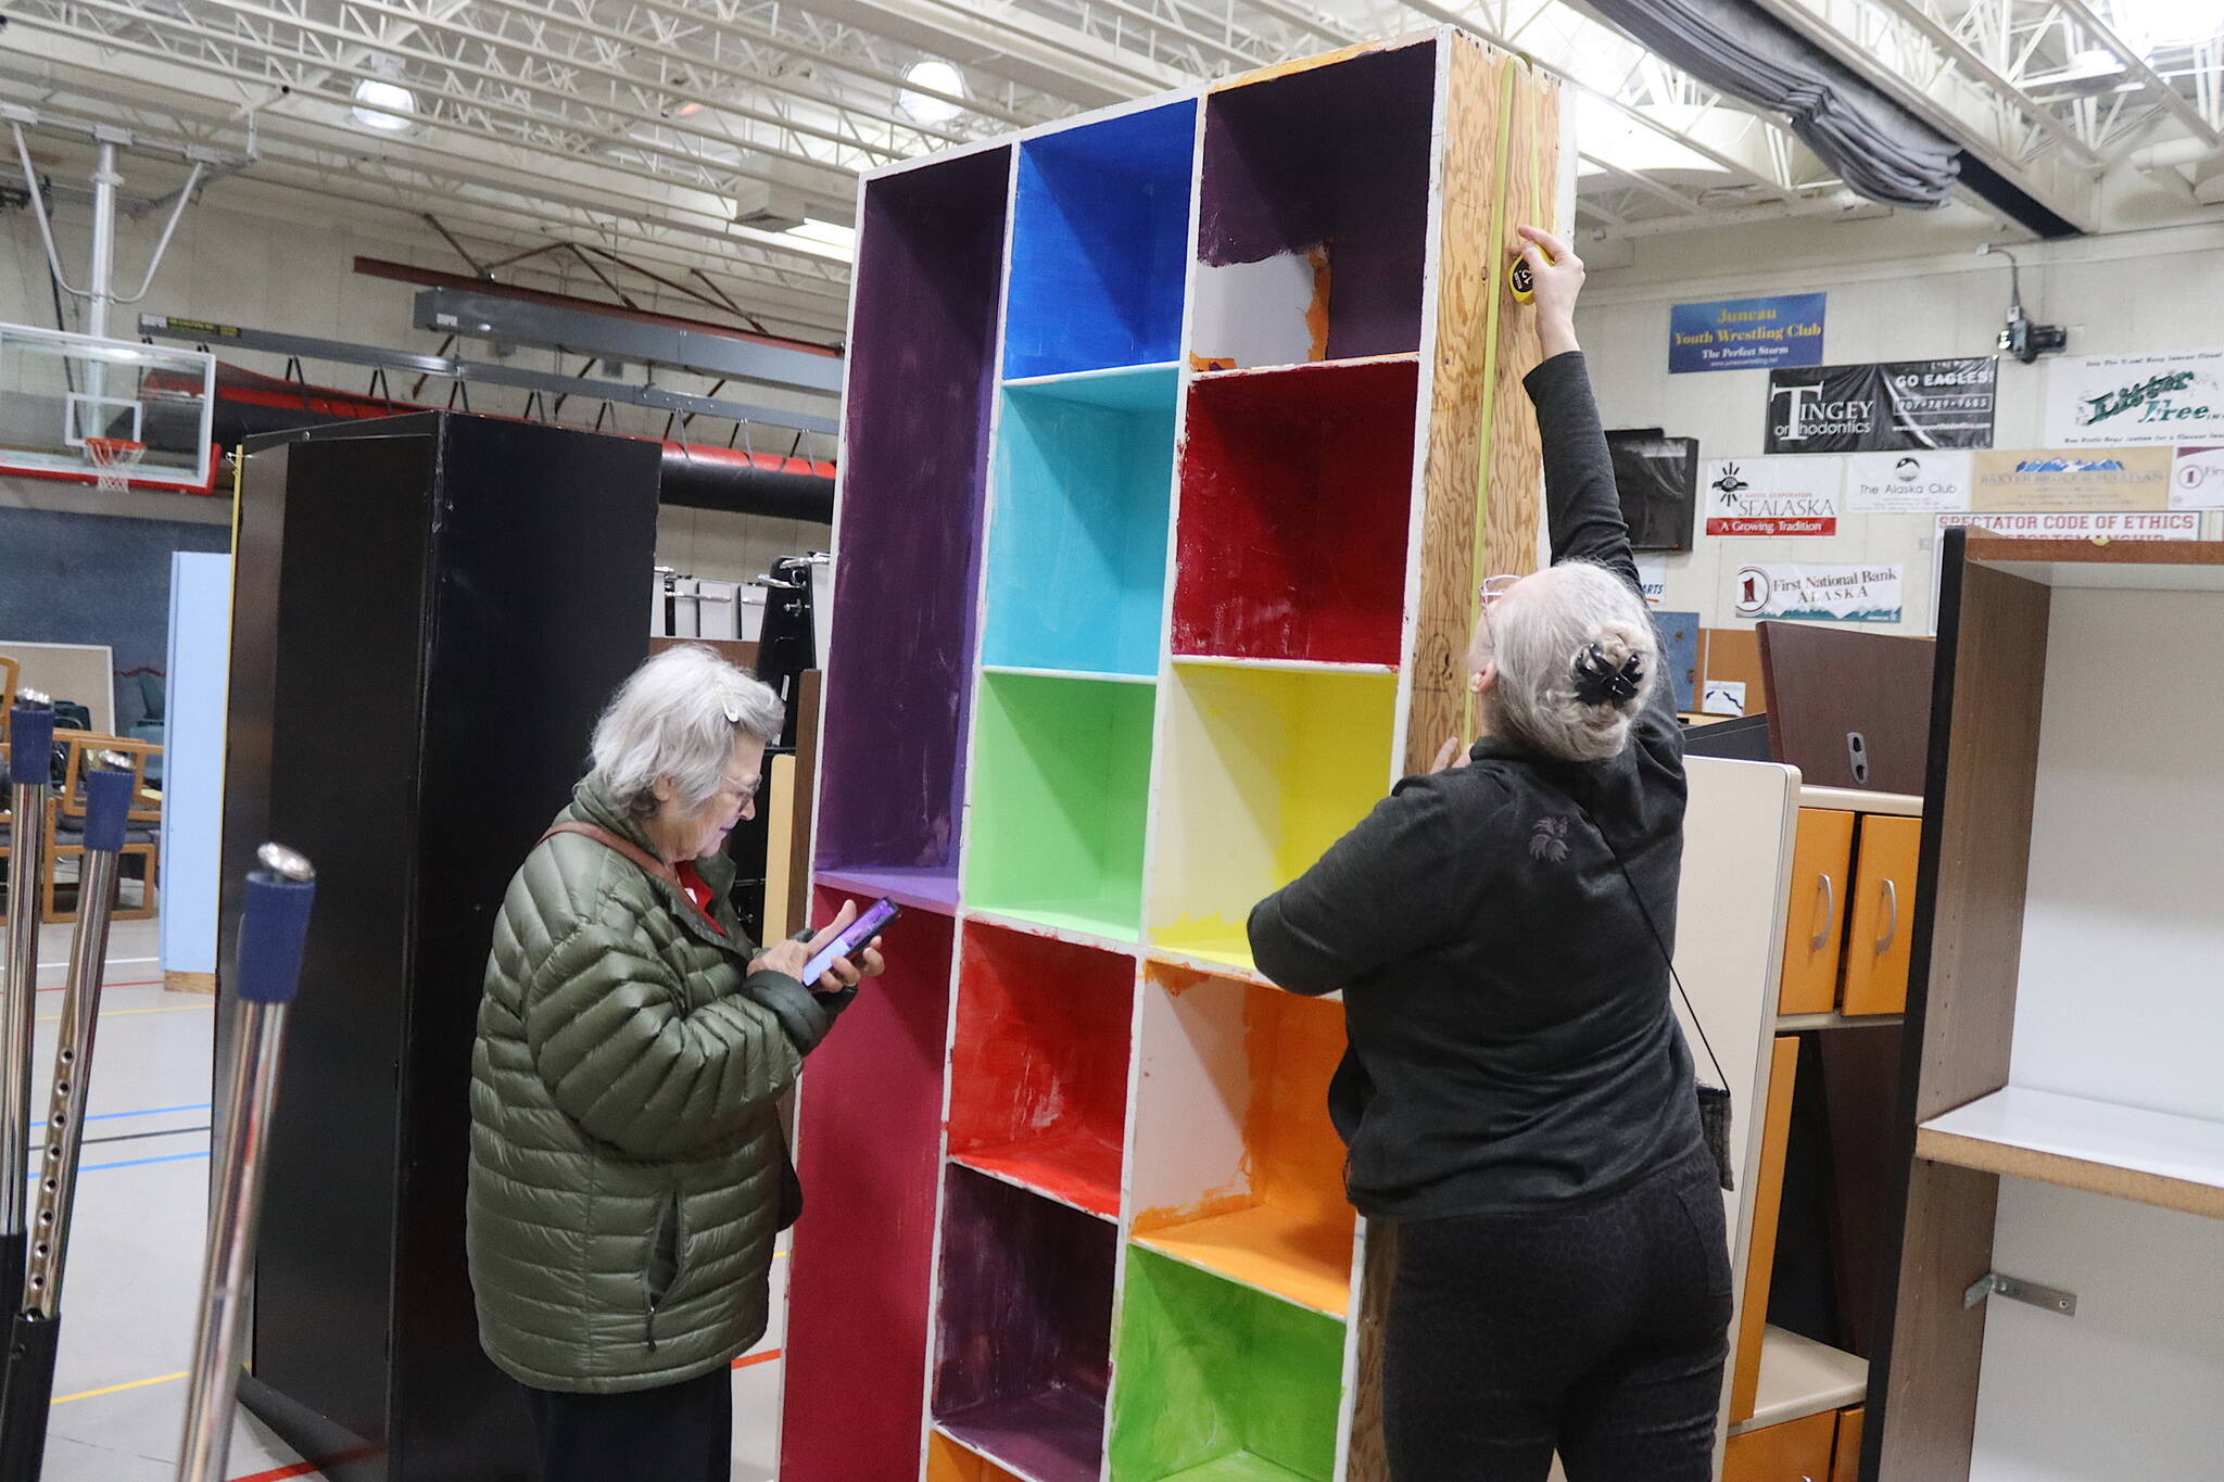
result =
[[[31,1146],[31,1022],[38,1015],[38,895],[53,775],[53,702],[18,689],[7,713],[7,980],[0,984],[0,1313],[22,1306],[24,1164]]]

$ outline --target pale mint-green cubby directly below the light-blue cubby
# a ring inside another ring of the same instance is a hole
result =
[[[965,904],[1136,940],[1154,684],[990,671]]]

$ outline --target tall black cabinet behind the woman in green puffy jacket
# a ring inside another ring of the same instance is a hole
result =
[[[454,413],[247,444],[225,940],[265,838],[318,900],[245,1398],[338,1482],[529,1475],[465,1269],[471,1038],[509,875],[647,653],[656,478],[654,442]]]

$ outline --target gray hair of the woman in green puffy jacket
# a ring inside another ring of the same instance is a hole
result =
[[[592,778],[629,813],[656,811],[656,782],[694,813],[725,787],[734,735],[781,740],[781,698],[703,644],[656,653],[609,698],[594,722]]]

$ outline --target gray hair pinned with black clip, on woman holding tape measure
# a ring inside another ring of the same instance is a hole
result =
[[[1590,647],[1610,669],[1644,664],[1628,700],[1586,704],[1575,667]],[[1488,655],[1499,673],[1483,691],[1488,729],[1563,762],[1604,762],[1630,742],[1630,720],[1661,682],[1659,635],[1646,602],[1606,567],[1570,560],[1521,582],[1490,609]]]

